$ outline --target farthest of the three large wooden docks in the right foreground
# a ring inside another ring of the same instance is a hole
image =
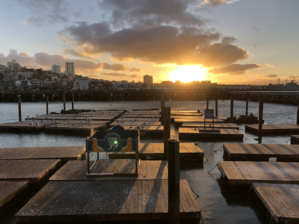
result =
[[[299,145],[223,143],[225,161],[299,162]]]

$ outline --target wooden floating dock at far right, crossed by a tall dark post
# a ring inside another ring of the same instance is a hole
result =
[[[245,125],[245,131],[253,134],[258,134],[258,125]],[[263,135],[289,135],[299,134],[299,125],[296,124],[276,124],[276,125],[263,125]]]

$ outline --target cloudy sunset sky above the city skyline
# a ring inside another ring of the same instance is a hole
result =
[[[154,83],[299,77],[298,0],[1,0],[0,64]],[[278,81],[280,80],[280,81]]]

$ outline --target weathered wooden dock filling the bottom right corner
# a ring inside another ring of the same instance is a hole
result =
[[[299,223],[299,185],[253,183],[252,186],[276,223]]]

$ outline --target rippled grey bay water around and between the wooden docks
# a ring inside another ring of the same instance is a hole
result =
[[[230,100],[218,101],[218,115],[230,116]],[[75,102],[75,109],[95,109],[95,110],[132,110],[132,109],[152,109],[160,108],[160,101],[147,102]],[[206,102],[165,102],[165,106],[171,107],[171,110],[201,110],[206,108]],[[234,101],[234,116],[245,114],[245,101]],[[209,108],[215,108],[215,102],[209,102]],[[49,102],[49,112],[57,112],[63,109],[62,102]],[[66,110],[71,109],[71,103],[67,102]],[[249,102],[248,113],[258,116],[259,102]],[[45,114],[45,102],[22,102],[22,119],[36,114]],[[297,107],[294,105],[264,103],[263,119],[265,124],[283,124],[296,123]],[[0,103],[0,123],[14,122],[19,120],[18,103]],[[258,143],[257,136],[245,133],[245,125],[239,125],[240,132],[244,134],[243,143]],[[70,134],[45,134],[45,133],[0,133],[1,147],[34,147],[34,146],[72,146],[85,145],[87,136]],[[171,138],[179,139],[178,130],[172,127]],[[290,136],[265,136],[262,138],[263,144],[290,144]],[[162,142],[163,139],[141,139],[141,143]],[[191,189],[194,191],[199,208],[202,211],[205,224],[216,223],[242,223],[265,224],[265,214],[261,213],[254,199],[243,195],[233,194],[229,189],[220,187],[219,179],[221,173],[216,163],[222,159],[220,149],[225,141],[200,142],[193,139],[193,142],[199,142],[199,148],[205,152],[203,164],[188,163],[181,165],[180,178],[187,179]],[[182,141],[181,141],[182,142]],[[212,171],[211,171],[212,170]],[[210,174],[208,173],[210,171]],[[14,223],[13,214],[4,217],[4,223]],[[3,221],[3,220],[2,220]],[[1,223],[2,223],[1,221]]]

